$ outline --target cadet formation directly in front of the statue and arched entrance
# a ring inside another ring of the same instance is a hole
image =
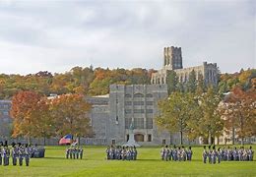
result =
[[[138,151],[136,147],[107,147],[105,149],[107,160],[136,160]]]

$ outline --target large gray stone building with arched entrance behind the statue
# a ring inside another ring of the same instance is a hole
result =
[[[170,135],[154,121],[158,102],[166,96],[166,85],[111,85],[109,95],[87,98],[93,104],[94,141],[121,145],[128,141],[133,122],[134,138],[140,145],[169,144]]]

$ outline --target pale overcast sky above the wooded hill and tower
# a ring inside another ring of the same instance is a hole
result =
[[[0,0],[0,73],[160,69],[172,45],[184,67],[256,68],[255,10],[253,0]]]

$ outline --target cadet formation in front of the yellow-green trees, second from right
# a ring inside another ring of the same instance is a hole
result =
[[[161,160],[173,160],[173,161],[191,161],[192,160],[193,151],[191,147],[188,149],[184,148],[183,146],[180,148],[168,148],[168,146],[162,147],[160,150],[160,158]]]

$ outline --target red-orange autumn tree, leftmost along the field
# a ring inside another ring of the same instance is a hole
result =
[[[13,137],[34,137],[38,119],[35,114],[40,95],[34,91],[20,91],[12,99],[11,116],[14,119]]]

